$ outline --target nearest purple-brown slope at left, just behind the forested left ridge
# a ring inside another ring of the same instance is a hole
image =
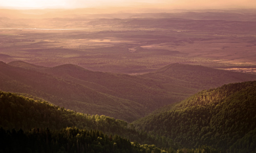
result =
[[[53,75],[0,63],[0,88],[28,93],[83,113],[109,115],[134,120],[143,114],[142,105],[127,99],[100,93],[78,83]]]

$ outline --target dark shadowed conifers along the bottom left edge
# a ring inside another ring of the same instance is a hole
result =
[[[67,127],[61,130],[0,129],[0,152],[166,152],[154,145],[139,145],[115,135],[112,139],[97,130]]]

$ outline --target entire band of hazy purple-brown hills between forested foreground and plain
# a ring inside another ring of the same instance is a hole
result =
[[[203,89],[253,80],[253,74],[178,63],[142,75],[94,72],[72,64],[43,67],[22,61],[0,63],[0,90],[26,93],[77,112],[126,121]]]

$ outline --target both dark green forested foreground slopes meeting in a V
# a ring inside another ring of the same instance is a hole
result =
[[[15,151],[18,146],[19,150],[38,150],[41,146],[40,150],[57,151],[70,150],[72,146],[72,152],[82,148],[113,149],[111,146],[116,143],[116,149],[139,148],[130,152],[253,152],[255,84],[255,81],[243,82],[203,90],[132,124],[0,91],[0,135],[5,138],[0,149]],[[32,129],[34,126],[38,128]],[[24,131],[5,131],[3,127]]]

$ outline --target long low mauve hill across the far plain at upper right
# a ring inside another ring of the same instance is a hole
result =
[[[181,16],[174,16],[174,18],[132,18],[123,21],[122,23],[126,26],[128,25],[136,28],[172,28],[196,31],[241,31],[241,29],[244,29],[247,32],[255,30],[255,27],[253,27],[253,24],[255,24],[255,17],[249,21],[239,21],[227,20],[227,18],[225,19],[221,17],[207,19],[207,17],[209,17],[207,16],[207,13],[205,13],[204,17],[202,16],[201,19],[196,19],[199,17],[199,14],[195,12],[190,12],[188,15],[194,17],[189,18],[183,16],[184,18],[181,18]]]

